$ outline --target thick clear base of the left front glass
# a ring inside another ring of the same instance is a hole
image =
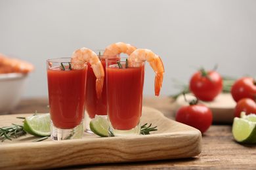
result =
[[[51,139],[53,141],[62,141],[68,139],[81,139],[83,137],[83,121],[79,126],[72,129],[60,129],[51,122]]]

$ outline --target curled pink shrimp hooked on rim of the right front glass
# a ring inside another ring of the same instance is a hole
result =
[[[154,54],[154,52],[152,52],[151,50],[137,49],[129,56],[128,61],[148,61],[150,63],[150,66],[156,73],[155,95],[158,96],[160,94],[160,90],[163,82],[163,72],[165,72],[161,58],[156,54]],[[133,63],[130,63],[128,67],[134,67],[132,64]]]

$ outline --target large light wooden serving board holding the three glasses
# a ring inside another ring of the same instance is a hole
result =
[[[0,127],[22,124],[12,114],[0,116]],[[152,123],[158,131],[150,135],[98,137],[85,133],[83,139],[41,141],[25,135],[0,143],[0,169],[50,169],[72,165],[190,158],[200,154],[202,135],[198,129],[165,118],[150,107],[142,108],[142,124]],[[0,138],[2,139],[2,138]]]

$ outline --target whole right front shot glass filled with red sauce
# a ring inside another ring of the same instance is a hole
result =
[[[140,135],[144,61],[106,59],[108,135]]]

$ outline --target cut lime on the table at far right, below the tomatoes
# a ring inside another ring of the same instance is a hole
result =
[[[242,118],[234,118],[232,135],[238,143],[256,143],[256,115],[241,114]]]

